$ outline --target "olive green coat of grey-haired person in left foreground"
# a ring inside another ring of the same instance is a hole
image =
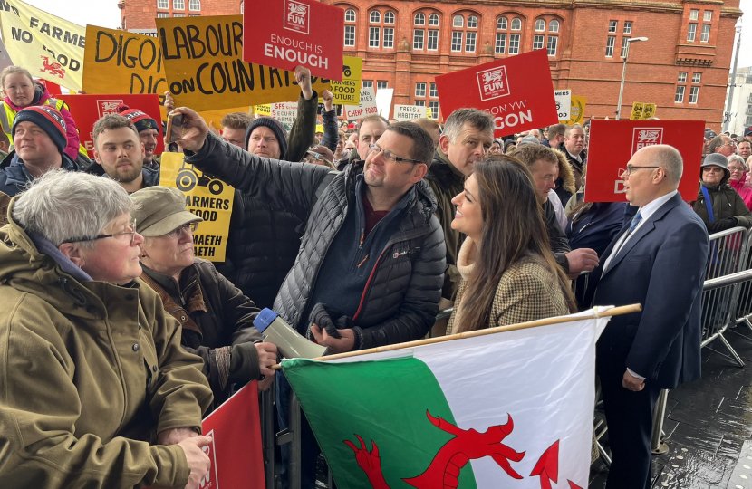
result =
[[[11,203],[11,207],[13,203]],[[174,427],[212,400],[201,359],[140,281],[79,282],[24,229],[0,229],[0,487],[188,483]]]

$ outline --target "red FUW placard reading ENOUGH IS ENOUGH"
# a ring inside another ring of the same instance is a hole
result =
[[[342,82],[344,10],[315,0],[245,0],[243,61]]]

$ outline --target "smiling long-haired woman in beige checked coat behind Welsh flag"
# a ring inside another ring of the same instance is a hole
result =
[[[487,155],[452,204],[457,206],[452,228],[468,238],[458,255],[463,280],[448,333],[576,312],[525,165]]]

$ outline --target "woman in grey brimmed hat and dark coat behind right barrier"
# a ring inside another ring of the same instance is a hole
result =
[[[720,153],[711,153],[700,165],[698,199],[692,208],[708,227],[709,234],[732,227],[752,227],[752,212],[738,192],[728,185],[731,172],[728,159]]]

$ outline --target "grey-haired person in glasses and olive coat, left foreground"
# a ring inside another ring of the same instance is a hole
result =
[[[72,190],[74,189],[74,190]],[[52,170],[0,229],[0,487],[198,487],[211,389],[115,181]]]

